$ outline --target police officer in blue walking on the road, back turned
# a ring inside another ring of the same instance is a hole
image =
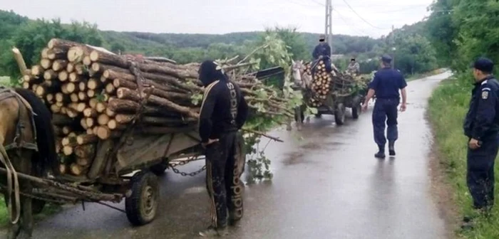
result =
[[[402,104],[400,110],[406,110],[406,80],[403,75],[391,68],[391,57],[383,55],[381,57],[381,69],[374,73],[374,78],[369,83],[369,91],[364,101],[364,111],[367,110],[367,103],[376,94],[376,103],[372,115],[374,128],[374,142],[378,144],[379,151],[374,154],[376,158],[385,158],[386,139],[389,142],[390,156],[395,156],[395,141],[398,139],[397,129],[397,107],[400,104],[400,95],[402,95]],[[401,92],[401,94],[399,93]],[[386,125],[388,129],[385,128]]]

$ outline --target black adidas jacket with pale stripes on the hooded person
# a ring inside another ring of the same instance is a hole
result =
[[[199,119],[202,142],[219,139],[226,132],[235,132],[246,122],[247,102],[240,87],[226,79],[216,80],[206,87]]]

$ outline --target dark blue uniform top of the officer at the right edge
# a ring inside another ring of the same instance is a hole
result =
[[[464,134],[473,139],[488,139],[499,132],[499,83],[485,78],[471,91],[470,109],[464,120]]]

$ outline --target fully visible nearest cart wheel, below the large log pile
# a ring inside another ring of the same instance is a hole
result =
[[[130,180],[132,194],[125,198],[125,211],[133,225],[153,221],[158,209],[158,178],[149,171],[139,171]]]

